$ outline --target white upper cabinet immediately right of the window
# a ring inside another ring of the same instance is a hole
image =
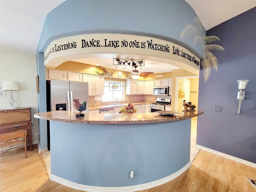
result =
[[[144,81],[126,79],[126,95],[144,94]]]

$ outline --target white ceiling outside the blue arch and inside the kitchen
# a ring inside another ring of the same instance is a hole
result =
[[[36,56],[46,15],[64,1],[0,0],[0,51]],[[186,0],[186,2],[195,10],[206,30],[256,6],[256,0]],[[86,59],[80,62],[100,63],[103,67],[107,65],[107,68],[110,68],[111,63],[111,66],[115,68],[112,59]],[[154,68],[154,66],[159,66],[158,64],[146,61],[147,67],[143,67],[141,72],[166,72],[159,70],[159,67]],[[161,69],[164,68],[161,67]]]

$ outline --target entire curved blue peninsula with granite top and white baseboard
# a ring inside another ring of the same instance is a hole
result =
[[[52,111],[34,117],[50,120],[51,180],[88,192],[132,192],[164,184],[190,166],[191,118],[201,114]]]

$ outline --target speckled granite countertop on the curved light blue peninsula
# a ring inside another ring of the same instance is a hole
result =
[[[182,112],[177,111],[176,116],[161,116],[158,112],[154,113],[134,113],[134,114],[91,114],[84,113],[84,117],[76,117],[77,112],[68,111],[51,111],[34,114],[35,118],[70,122],[83,124],[141,124],[141,123],[157,123],[184,120],[202,115],[203,111]]]

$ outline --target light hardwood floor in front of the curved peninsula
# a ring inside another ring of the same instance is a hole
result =
[[[40,156],[36,146],[28,151],[28,158],[22,148],[0,154],[0,191],[81,192],[49,180]],[[200,150],[186,172],[140,192],[256,192],[246,178],[256,180],[256,168]]]

